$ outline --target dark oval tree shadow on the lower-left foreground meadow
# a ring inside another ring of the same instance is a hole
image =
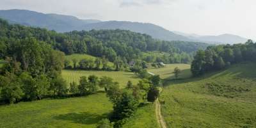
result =
[[[56,120],[70,120],[76,124],[97,124],[103,118],[108,118],[109,113],[102,115],[96,113],[67,113],[63,115],[55,116]]]

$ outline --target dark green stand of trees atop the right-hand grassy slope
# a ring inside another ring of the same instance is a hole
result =
[[[256,44],[248,40],[245,44],[217,45],[198,51],[191,63],[193,76],[211,70],[220,70],[241,61],[256,60]]]

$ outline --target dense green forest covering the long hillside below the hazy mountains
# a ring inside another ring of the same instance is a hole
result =
[[[10,40],[22,40],[33,37],[51,45],[53,49],[65,54],[90,54],[115,61],[118,56],[123,61],[153,58],[148,62],[164,61],[165,63],[189,63],[198,49],[205,49],[208,44],[196,42],[166,42],[155,40],[149,35],[126,30],[92,30],[56,33],[42,28],[31,28],[18,24],[8,24],[0,20],[0,58],[4,58]],[[150,54],[152,51],[163,52],[162,56]],[[143,54],[147,52],[148,54]],[[147,56],[145,56],[147,55]]]

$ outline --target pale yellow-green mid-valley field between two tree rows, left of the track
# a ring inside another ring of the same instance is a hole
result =
[[[95,75],[98,77],[108,76],[112,77],[114,81],[118,82],[120,86],[124,87],[127,84],[127,81],[132,81],[132,84],[137,84],[140,80],[138,76],[135,76],[132,72],[123,72],[123,71],[97,71],[97,70],[62,70],[62,76],[66,79],[67,83],[76,81],[79,83],[81,76]]]

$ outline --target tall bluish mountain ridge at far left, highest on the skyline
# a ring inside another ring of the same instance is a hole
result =
[[[1,10],[0,17],[15,24],[54,29],[59,32],[78,30],[84,24],[100,22],[100,20],[81,20],[70,15],[45,14],[29,10]]]

